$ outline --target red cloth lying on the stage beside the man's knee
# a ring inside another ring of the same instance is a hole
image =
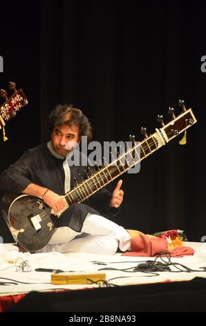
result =
[[[131,251],[122,252],[122,256],[153,257],[164,250],[167,250],[171,257],[194,255],[193,248],[181,246],[168,249],[167,239],[140,233],[136,237],[131,237]]]

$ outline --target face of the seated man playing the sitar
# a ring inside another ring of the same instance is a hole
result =
[[[69,152],[73,151],[75,144],[79,144],[79,125],[73,123],[71,126],[56,126],[50,139],[55,152],[66,157]]]

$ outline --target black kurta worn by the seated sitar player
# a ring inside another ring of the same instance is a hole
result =
[[[15,164],[9,166],[0,175],[1,196],[8,192],[21,194],[30,183],[35,183],[41,187],[46,187],[56,194],[64,195],[64,160],[53,156],[46,144],[41,144],[26,151]],[[85,166],[71,166],[71,189],[79,174],[84,175]],[[119,209],[110,207],[111,193],[106,189],[101,189],[93,194],[84,203],[73,204],[66,209],[57,219],[56,228],[69,226],[73,230],[80,232],[82,224],[88,213],[98,214],[110,218],[118,213]]]

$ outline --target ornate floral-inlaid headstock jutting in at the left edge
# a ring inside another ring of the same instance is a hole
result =
[[[8,97],[8,93],[5,89],[0,90],[0,96],[4,98],[4,103],[0,105],[0,129],[3,129],[3,141],[8,139],[4,129],[6,122],[15,117],[17,112],[28,104],[28,100],[24,92],[22,89],[17,90],[17,85],[15,83],[10,82],[8,87],[13,92],[10,97]]]

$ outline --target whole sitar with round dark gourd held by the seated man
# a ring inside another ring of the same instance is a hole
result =
[[[171,114],[169,123],[165,124],[162,116],[159,115],[158,121],[161,123],[161,128],[156,128],[156,131],[149,136],[142,128],[142,133],[144,133],[142,141],[138,143],[133,141],[133,146],[121,153],[113,162],[88,175],[86,179],[77,183],[73,189],[64,194],[62,197],[66,206],[59,212],[58,216],[53,215],[51,208],[42,198],[26,194],[20,196],[6,194],[1,203],[2,214],[15,241],[30,252],[40,250],[50,241],[55,231],[57,218],[73,203],[84,202],[96,191],[108,185],[138,162],[149,157],[182,132],[184,132],[184,137],[179,142],[184,144],[187,128],[193,126],[197,120],[191,108],[185,108],[184,101],[179,101],[179,106],[182,108],[182,112],[178,117],[175,116],[174,109],[169,108]]]

